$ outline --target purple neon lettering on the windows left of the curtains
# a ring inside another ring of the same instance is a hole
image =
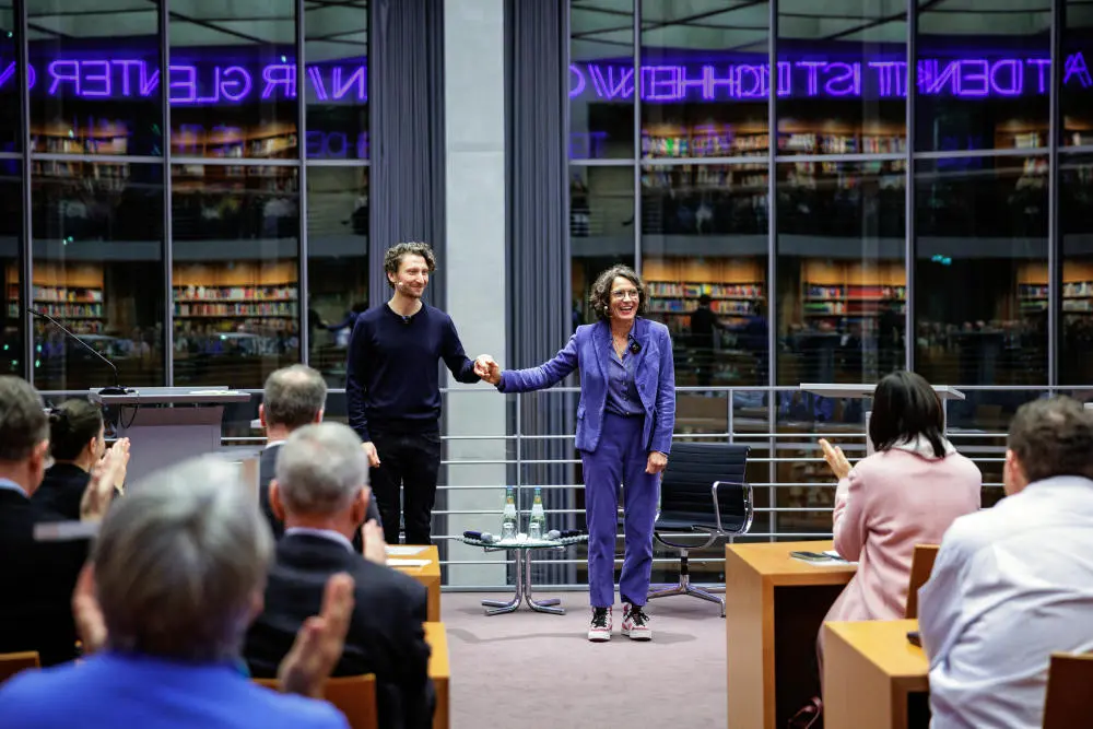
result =
[[[15,83],[15,62],[0,70],[0,90]],[[31,89],[49,96],[146,98],[158,95],[160,69],[130,58],[58,58],[44,69],[27,68]],[[310,66],[306,89],[319,102],[368,101],[364,63]],[[247,101],[296,98],[296,64],[269,63],[260,69],[238,64],[172,63],[167,97],[174,105],[242,104]]]

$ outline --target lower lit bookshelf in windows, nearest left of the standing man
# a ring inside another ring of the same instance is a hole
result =
[[[175,327],[210,326],[234,331],[240,324],[265,329],[295,328],[299,316],[296,267],[292,261],[176,264]]]

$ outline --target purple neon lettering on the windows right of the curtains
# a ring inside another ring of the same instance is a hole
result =
[[[768,63],[682,63],[643,66],[643,102],[765,99],[771,90]],[[907,95],[907,62],[898,60],[779,61],[780,97],[898,98]],[[920,59],[918,93],[962,98],[1016,97],[1048,93],[1047,58]],[[1093,86],[1081,52],[1067,57],[1063,85]],[[624,64],[569,66],[569,98],[627,99],[634,96],[634,69]]]

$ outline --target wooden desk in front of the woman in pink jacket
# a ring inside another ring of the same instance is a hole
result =
[[[857,567],[814,566],[789,553],[832,546],[831,541],[726,545],[730,729],[784,727],[818,693],[816,636]]]

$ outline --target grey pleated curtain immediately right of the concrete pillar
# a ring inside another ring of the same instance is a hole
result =
[[[569,50],[568,2],[508,0],[505,5],[508,251],[510,284],[509,353],[513,367],[538,365],[553,356],[573,333],[569,294],[569,238],[566,174]],[[572,378],[576,383],[576,378]],[[573,433],[576,396],[525,396],[524,435]],[[524,439],[522,460],[573,458],[573,442]],[[516,475],[515,473],[513,474]],[[522,466],[524,484],[572,483],[567,466]],[[516,481],[512,481],[515,483]],[[543,492],[548,509],[572,508],[568,490]],[[521,506],[529,506],[525,490]],[[572,528],[551,517],[549,527]],[[580,520],[580,527],[584,520]],[[536,555],[540,557],[539,554]],[[560,555],[562,557],[566,555]],[[572,569],[551,568],[540,579],[572,580]]]

